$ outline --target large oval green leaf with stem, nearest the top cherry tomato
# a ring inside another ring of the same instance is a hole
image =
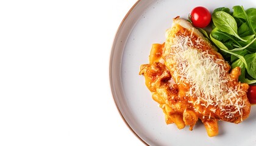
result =
[[[238,35],[235,18],[233,18],[229,13],[223,11],[215,12],[212,15],[212,19],[215,26],[222,32],[229,33],[241,41],[246,41]]]

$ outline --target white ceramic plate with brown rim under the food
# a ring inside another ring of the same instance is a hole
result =
[[[219,135],[208,137],[204,125],[197,122],[193,131],[166,125],[162,109],[151,98],[138,75],[140,65],[148,63],[153,43],[165,41],[165,30],[172,18],[187,18],[191,10],[202,5],[211,12],[218,7],[243,5],[256,7],[255,0],[141,0],[133,5],[116,33],[110,57],[110,85],[113,98],[124,121],[148,145],[256,145],[256,105],[244,122],[219,122]]]

